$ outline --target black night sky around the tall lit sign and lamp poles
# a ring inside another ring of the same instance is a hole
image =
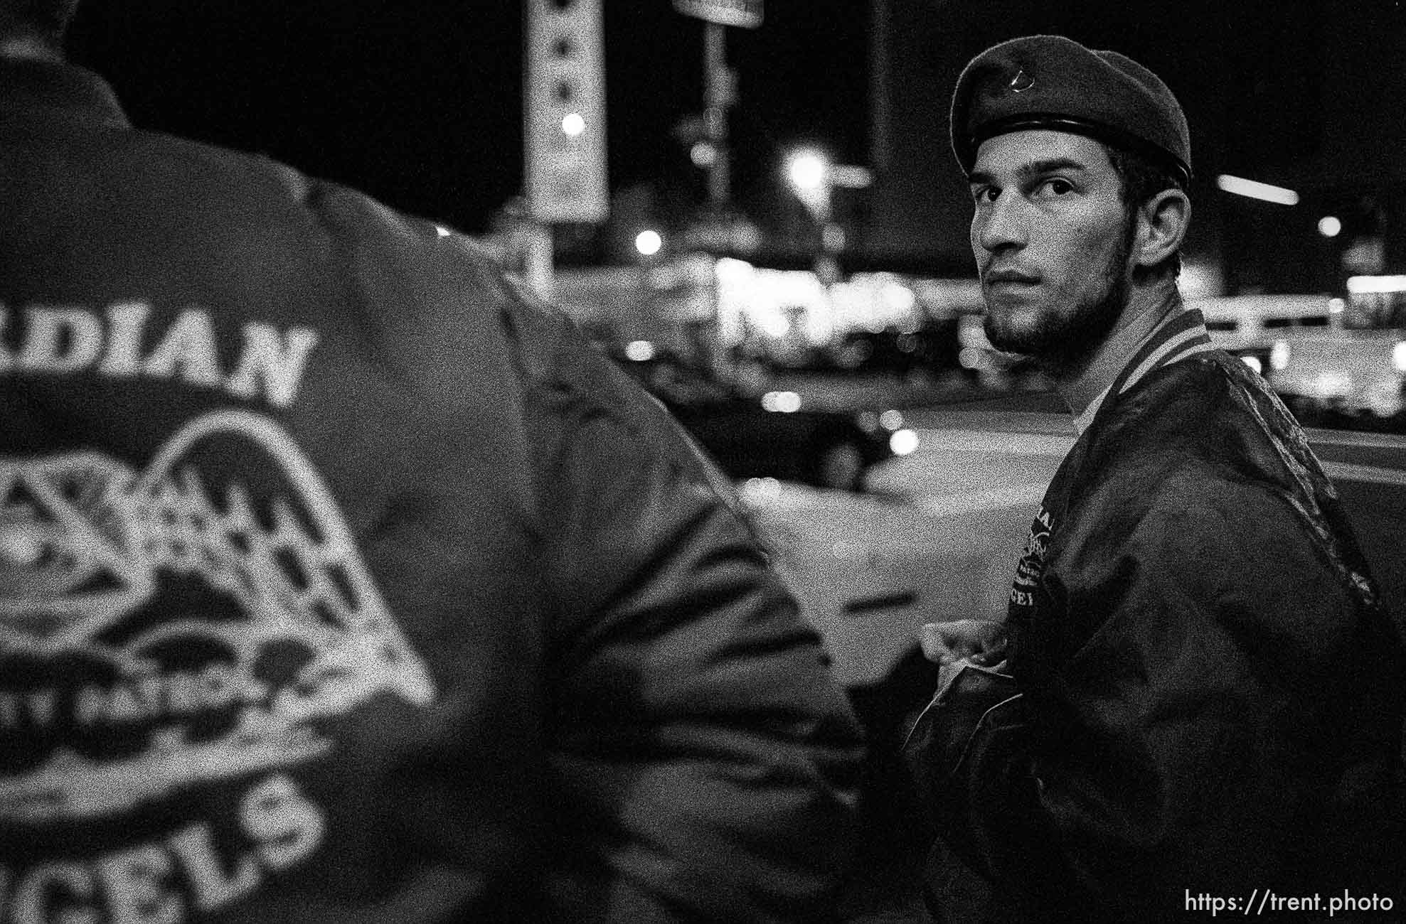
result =
[[[762,28],[728,29],[740,190],[794,139],[865,154],[866,4],[768,6]],[[606,0],[605,35],[612,187],[662,176],[700,191],[669,132],[702,110],[703,24],[668,0]],[[522,41],[513,0],[86,0],[69,53],[139,126],[477,230],[522,188]]]

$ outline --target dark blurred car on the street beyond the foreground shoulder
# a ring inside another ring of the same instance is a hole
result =
[[[796,392],[752,395],[652,345],[610,357],[658,397],[724,472],[859,490],[872,465],[915,440],[898,411],[807,407]],[[897,435],[903,434],[903,435]]]

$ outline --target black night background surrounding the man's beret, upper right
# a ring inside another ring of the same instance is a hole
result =
[[[876,191],[873,211],[896,251],[917,240],[924,253],[970,265],[970,202],[948,150],[948,97],[973,55],[1032,32],[1121,51],[1173,88],[1191,126],[1197,174],[1187,249],[1240,274],[1232,285],[1324,285],[1317,270],[1308,272],[1333,260],[1316,232],[1324,213],[1354,227],[1362,218],[1388,233],[1389,247],[1406,246],[1399,0],[889,1],[891,98],[901,115],[891,131],[891,183]],[[1294,188],[1303,201],[1285,209],[1225,194],[1215,185],[1222,173]],[[1250,263],[1258,264],[1253,279],[1241,272]]]

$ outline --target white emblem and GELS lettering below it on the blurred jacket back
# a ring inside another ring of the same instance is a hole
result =
[[[325,820],[288,774],[378,695],[436,691],[271,418],[198,417],[141,472],[0,459],[0,840],[31,841],[0,855],[15,920],[128,920],[160,886],[180,921],[301,862]]]

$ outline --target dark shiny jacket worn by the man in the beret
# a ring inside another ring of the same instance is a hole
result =
[[[1032,525],[1008,673],[959,673],[910,739],[934,907],[1406,895],[1402,635],[1303,431],[1209,347],[1119,390]]]

